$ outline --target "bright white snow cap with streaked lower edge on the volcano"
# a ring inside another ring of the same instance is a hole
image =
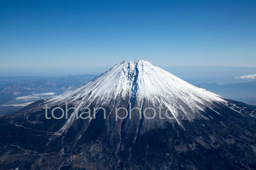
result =
[[[118,63],[91,82],[52,98],[47,103],[53,106],[68,102],[78,110],[90,107],[92,103],[97,107],[114,109],[117,100],[124,100],[126,104],[119,107],[125,108],[129,102],[136,103],[139,108],[143,105],[168,108],[170,116],[181,126],[180,119],[208,119],[198,112],[204,111],[206,107],[214,111],[214,102],[225,103],[219,95],[195,87],[144,60]],[[74,119],[75,114],[70,116],[67,124],[71,124]],[[66,126],[62,130],[65,128]]]

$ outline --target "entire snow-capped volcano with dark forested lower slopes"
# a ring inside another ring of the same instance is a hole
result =
[[[46,104],[48,115],[76,109],[46,119]],[[79,117],[100,107],[105,115]],[[129,107],[136,109],[119,110],[124,119],[116,119],[116,108]],[[162,110],[148,119],[149,107]],[[256,169],[255,112],[150,62],[123,61],[75,90],[1,116],[0,169]]]

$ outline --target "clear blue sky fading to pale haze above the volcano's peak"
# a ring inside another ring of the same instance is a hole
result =
[[[163,67],[256,66],[255,9],[255,0],[1,1],[1,75],[140,59]]]

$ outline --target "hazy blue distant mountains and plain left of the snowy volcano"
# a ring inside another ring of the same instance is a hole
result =
[[[65,77],[23,76],[0,77],[0,114],[17,111],[23,104],[39,99],[52,98],[96,78],[98,74]],[[16,106],[8,106],[13,105]]]

